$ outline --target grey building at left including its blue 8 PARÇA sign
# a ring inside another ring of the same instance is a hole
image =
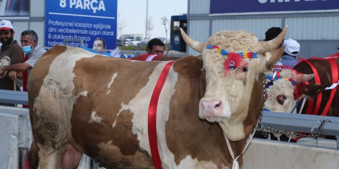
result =
[[[105,40],[107,49],[116,47],[117,0],[4,0],[0,17],[12,22],[18,41],[22,31],[31,29],[38,34],[38,45],[46,48],[81,43],[92,48],[96,38]]]

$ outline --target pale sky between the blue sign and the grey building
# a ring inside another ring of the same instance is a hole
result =
[[[126,23],[122,34],[143,34],[145,37],[146,6],[147,0],[118,0],[117,24],[121,20]],[[183,13],[187,14],[187,0],[148,0],[148,17],[153,18],[154,25],[151,37],[166,37],[165,28],[161,24],[163,16],[170,21],[171,16]],[[169,22],[167,26],[170,26]],[[169,29],[167,39],[170,39]]]

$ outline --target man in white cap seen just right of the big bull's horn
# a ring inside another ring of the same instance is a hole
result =
[[[294,67],[296,64],[298,64],[298,62],[295,61],[295,57],[300,51],[300,44],[297,41],[288,38],[284,40],[283,45],[285,46],[285,50],[281,57],[281,63],[282,65]]]

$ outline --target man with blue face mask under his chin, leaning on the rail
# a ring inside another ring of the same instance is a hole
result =
[[[27,79],[30,69],[34,66],[35,62],[46,52],[46,50],[40,47],[37,34],[33,30],[25,30],[21,33],[21,46],[26,55],[23,63],[8,65],[0,68],[0,78],[4,78],[6,71],[11,71],[9,76],[12,79],[23,78],[23,89],[27,91]],[[27,71],[27,74],[25,73]],[[23,72],[23,73],[22,73]]]

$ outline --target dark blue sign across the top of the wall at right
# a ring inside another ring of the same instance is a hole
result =
[[[210,0],[210,14],[339,9],[338,0]]]

